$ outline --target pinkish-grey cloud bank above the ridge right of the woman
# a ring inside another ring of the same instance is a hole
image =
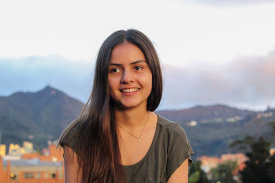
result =
[[[162,106],[226,103],[249,109],[275,106],[275,51],[223,65],[164,66]]]

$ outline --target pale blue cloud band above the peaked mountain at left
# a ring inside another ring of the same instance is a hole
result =
[[[81,101],[89,97],[94,63],[54,56],[0,58],[0,95],[37,91],[46,85]]]

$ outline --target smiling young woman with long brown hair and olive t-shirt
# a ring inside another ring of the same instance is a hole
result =
[[[175,88],[176,89],[176,88]],[[162,71],[148,38],[120,30],[100,47],[82,114],[63,132],[65,182],[188,182],[184,130],[155,114]]]

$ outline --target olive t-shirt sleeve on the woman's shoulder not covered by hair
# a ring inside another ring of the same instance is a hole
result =
[[[167,159],[167,180],[175,170],[188,158],[189,166],[192,163],[190,156],[194,154],[184,129],[175,123],[175,129],[170,134]]]

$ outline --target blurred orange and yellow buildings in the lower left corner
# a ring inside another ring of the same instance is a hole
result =
[[[11,143],[6,154],[5,145],[0,145],[0,182],[65,182],[63,149],[48,141],[48,147],[39,152],[32,143],[24,141],[22,147]]]

